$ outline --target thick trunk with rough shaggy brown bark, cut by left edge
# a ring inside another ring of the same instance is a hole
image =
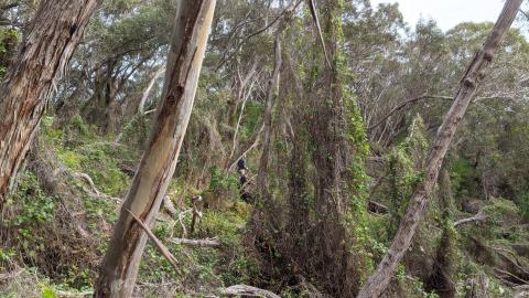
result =
[[[0,209],[99,0],[42,0],[0,85]]]

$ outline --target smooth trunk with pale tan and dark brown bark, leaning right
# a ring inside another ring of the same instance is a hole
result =
[[[129,211],[152,225],[174,173],[193,108],[215,0],[180,1],[158,118],[114,228],[95,297],[130,297],[147,236]]]

